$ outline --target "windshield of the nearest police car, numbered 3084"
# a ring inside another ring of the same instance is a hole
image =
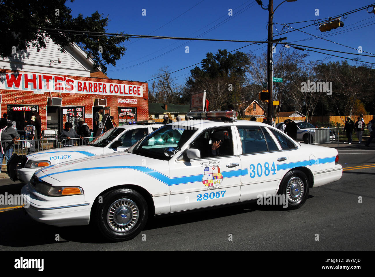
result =
[[[159,160],[169,160],[171,157],[165,156],[165,148],[173,147],[175,150],[181,149],[196,130],[198,128],[190,126],[165,125],[144,137],[129,148],[127,152]]]

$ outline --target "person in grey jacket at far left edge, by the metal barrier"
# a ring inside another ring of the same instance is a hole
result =
[[[3,158],[6,162],[9,161],[13,154],[13,145],[16,140],[20,138],[18,132],[12,127],[12,123],[5,123],[3,121],[0,125],[0,140],[12,140],[11,142],[2,142],[0,144],[0,170],[3,164]]]

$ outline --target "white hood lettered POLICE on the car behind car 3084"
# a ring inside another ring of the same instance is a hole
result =
[[[77,158],[86,158],[86,157],[92,157],[95,155],[103,154],[103,148],[101,147],[95,147],[95,146],[89,146],[89,145],[83,145],[83,146],[71,146],[71,147],[64,147],[64,148],[57,148],[57,149],[50,149],[50,150],[43,150],[38,151],[33,154],[27,155],[28,159],[31,160],[46,160],[49,161],[50,157],[51,160],[53,160],[53,157],[56,157],[55,160],[63,161],[63,158],[61,156],[64,155],[75,155]],[[60,159],[59,159],[60,157]],[[73,158],[73,157],[72,157]]]

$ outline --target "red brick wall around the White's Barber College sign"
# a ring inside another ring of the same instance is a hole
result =
[[[2,71],[1,73],[10,73],[10,72],[17,72],[17,71],[6,69],[5,71]],[[23,71],[19,71],[19,72],[23,72]],[[31,72],[31,71],[27,71],[27,72]],[[31,73],[41,74],[40,72],[31,72]],[[105,98],[107,98],[106,107],[111,108],[110,114],[111,116],[113,116],[117,124],[118,124],[118,107],[136,107],[137,108],[137,120],[148,119],[148,83],[121,81],[121,80],[114,80],[114,79],[98,79],[98,78],[80,77],[80,76],[72,76],[72,75],[61,75],[61,74],[54,74],[54,75],[69,77],[74,80],[83,80],[83,81],[98,81],[98,82],[130,84],[130,85],[138,85],[138,86],[142,86],[143,84],[145,84],[145,89],[143,89],[143,97],[132,97],[132,96],[127,96],[127,95],[111,95],[111,96],[105,95]],[[34,94],[32,91],[0,89],[0,94],[2,97],[1,117],[3,113],[7,113],[7,105],[14,105],[14,104],[16,105],[39,105],[39,114],[40,114],[40,117],[42,118],[42,130],[47,128],[46,105],[47,105],[47,98],[50,96],[49,92],[45,92],[44,94]],[[58,94],[54,92],[51,94],[53,97],[61,97],[62,95],[63,106],[84,106],[85,107],[84,113],[92,113],[94,98],[98,98],[98,97],[104,98],[104,96],[101,96],[98,94],[96,96],[95,94],[81,94],[81,93],[75,93],[74,95],[71,95],[69,93]],[[18,98],[15,103],[15,98],[20,97],[20,96],[25,96],[25,97]],[[137,104],[118,104],[117,103],[118,98],[137,99]],[[90,128],[93,128],[91,118],[86,119],[85,117],[85,122],[87,123],[87,125],[89,125]]]

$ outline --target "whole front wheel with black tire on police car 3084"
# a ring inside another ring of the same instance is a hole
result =
[[[103,203],[95,208],[95,219],[106,239],[127,241],[143,230],[147,223],[148,207],[138,191],[120,188],[109,191],[102,197]]]

